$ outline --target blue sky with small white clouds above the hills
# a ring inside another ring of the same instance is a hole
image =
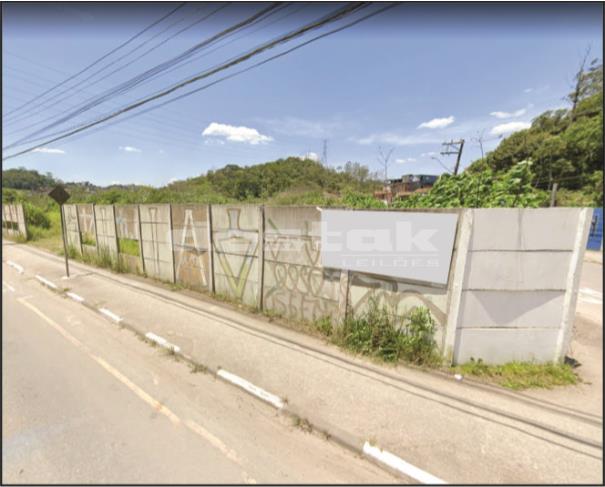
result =
[[[48,98],[65,91],[55,101],[41,98],[16,110],[176,5],[4,3],[3,147],[44,127],[44,120],[263,7],[230,4],[134,62],[137,54],[221,5],[187,4],[94,68],[125,55],[111,69],[76,85],[94,70],[87,71],[49,93]],[[203,71],[340,5],[285,5],[274,17],[251,28],[255,32],[243,31],[220,49],[113,98],[65,126]],[[167,30],[162,33],[163,29]],[[137,52],[126,55],[145,41]],[[3,164],[50,171],[67,181],[159,186],[226,164],[321,155],[327,139],[330,166],[351,160],[378,170],[378,147],[382,146],[394,149],[390,177],[439,174],[443,168],[433,157],[449,167],[454,163],[453,156],[438,154],[441,142],[466,139],[464,166],[480,155],[474,141],[480,133],[489,150],[544,110],[565,106],[563,97],[589,45],[593,55],[601,58],[602,7],[598,3],[400,4],[188,98],[45,145]],[[122,69],[91,84],[118,67]],[[9,114],[12,110],[16,111]],[[4,155],[29,145],[8,149]]]

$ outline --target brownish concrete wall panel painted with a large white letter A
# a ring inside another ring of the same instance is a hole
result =
[[[211,290],[207,205],[172,205],[172,245],[176,282]]]

